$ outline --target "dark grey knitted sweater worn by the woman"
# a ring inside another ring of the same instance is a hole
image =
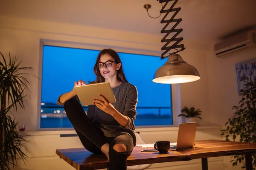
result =
[[[137,88],[135,85],[132,85],[128,82],[122,82],[121,85],[117,86],[116,88],[112,88],[112,91],[116,98],[116,103],[112,103],[112,105],[114,108],[116,108],[117,111],[128,117],[127,125],[123,127],[110,114],[105,113],[95,105],[88,105],[87,116],[93,125],[99,127],[102,130],[105,136],[116,137],[122,133],[127,133],[133,138],[135,146],[136,137],[134,120],[135,116],[137,115]],[[59,101],[59,98],[57,104],[64,105]],[[78,96],[74,96],[73,98],[79,101]]]

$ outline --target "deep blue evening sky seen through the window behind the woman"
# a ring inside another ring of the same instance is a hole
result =
[[[93,81],[93,66],[100,51],[44,46],[42,102],[56,103],[79,79]],[[138,90],[138,107],[171,107],[170,85],[152,82],[154,72],[166,59],[118,53],[125,77]]]

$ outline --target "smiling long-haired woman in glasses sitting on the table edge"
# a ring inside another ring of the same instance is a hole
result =
[[[126,170],[126,160],[136,145],[134,120],[137,114],[137,88],[128,83],[122,70],[122,62],[116,51],[100,51],[94,73],[94,82],[109,82],[116,103],[94,99],[87,115],[79,103],[74,89],[58,98],[58,105],[64,105],[67,117],[72,123],[84,147],[92,153],[104,153],[109,159],[110,170]],[[75,86],[85,85],[79,80]]]

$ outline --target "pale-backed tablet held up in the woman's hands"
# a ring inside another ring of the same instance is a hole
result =
[[[109,102],[115,103],[116,98],[110,87],[109,82],[79,85],[74,87],[76,94],[83,106],[94,105],[94,99],[103,100],[100,94],[105,96]]]

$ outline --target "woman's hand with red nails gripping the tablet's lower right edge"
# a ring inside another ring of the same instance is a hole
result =
[[[111,104],[111,102],[108,101],[108,99],[106,99],[103,95],[100,95],[100,96],[103,99],[103,101],[101,101],[99,99],[94,99],[95,100],[94,104],[100,110],[105,111],[106,113],[113,116],[113,114],[116,112],[116,109]]]

